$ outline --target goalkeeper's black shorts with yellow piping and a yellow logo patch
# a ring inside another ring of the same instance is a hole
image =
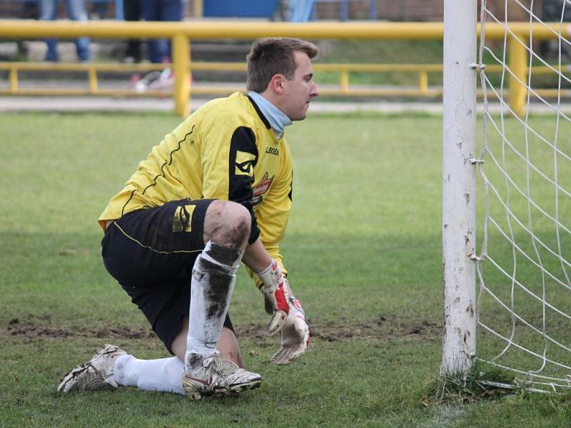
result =
[[[204,248],[204,218],[212,201],[175,200],[127,213],[108,225],[101,241],[106,269],[171,353],[190,309],[192,267]],[[228,315],[224,326],[234,330]]]

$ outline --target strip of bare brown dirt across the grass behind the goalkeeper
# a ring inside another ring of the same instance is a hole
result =
[[[312,322],[309,320],[311,338],[327,342],[347,342],[364,340],[390,340],[400,337],[418,337],[419,339],[434,339],[440,337],[440,324],[431,321],[421,321],[405,324],[398,320],[388,320],[378,316],[363,323],[343,322]],[[244,337],[260,345],[272,343],[273,339],[266,335],[265,325],[236,326],[238,338]],[[42,320],[26,321],[14,318],[5,325],[0,325],[0,336],[14,342],[37,342],[46,339],[66,339],[68,337],[90,337],[101,339],[145,339],[156,338],[150,328],[113,327],[109,329],[88,328],[85,326],[54,327]]]

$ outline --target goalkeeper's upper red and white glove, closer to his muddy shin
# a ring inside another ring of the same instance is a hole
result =
[[[272,260],[271,265],[258,273],[258,276],[263,282],[266,312],[272,316],[268,324],[268,335],[275,335],[283,328],[290,312],[288,287],[276,260]]]

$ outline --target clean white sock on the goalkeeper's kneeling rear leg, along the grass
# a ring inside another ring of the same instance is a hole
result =
[[[123,387],[184,394],[183,367],[178,357],[138,360],[133,355],[123,355],[115,362],[113,378]]]

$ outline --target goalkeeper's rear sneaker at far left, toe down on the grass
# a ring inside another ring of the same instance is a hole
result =
[[[127,352],[114,345],[105,345],[98,350],[89,362],[75,367],[61,378],[59,392],[95,391],[96,389],[116,389],[113,368],[118,357]]]

